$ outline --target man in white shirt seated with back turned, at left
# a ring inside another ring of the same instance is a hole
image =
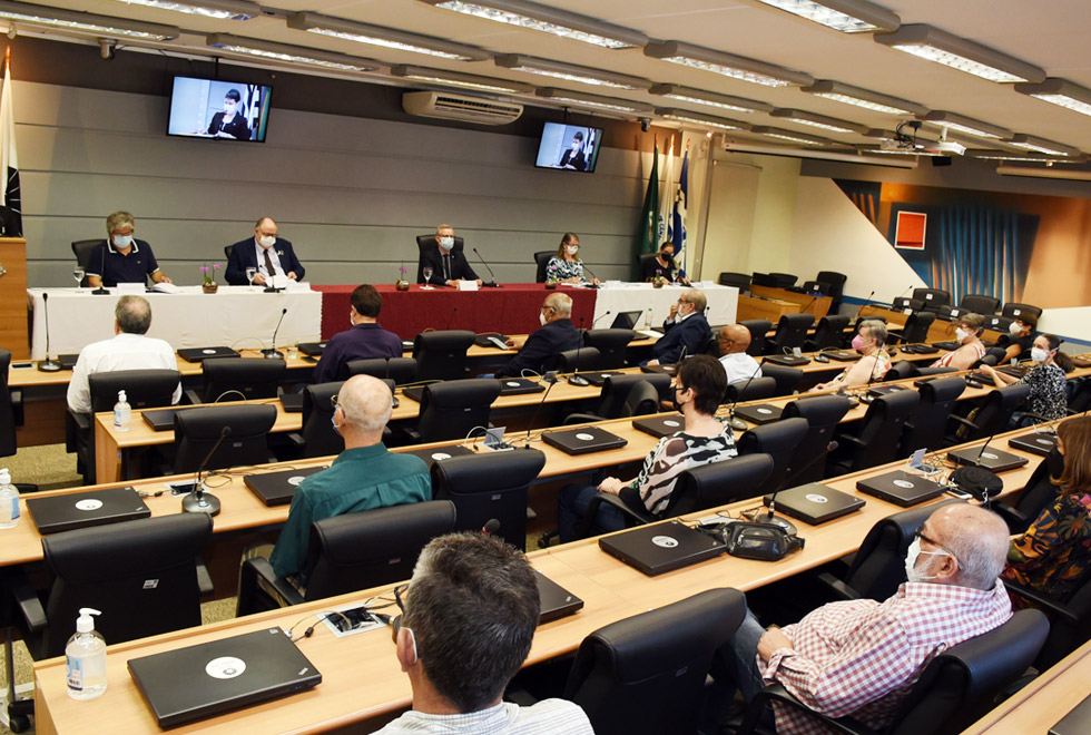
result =
[[[89,378],[116,370],[178,370],[175,351],[163,340],[146,336],[151,326],[151,304],[144,296],[121,296],[114,308],[114,339],[83,347],[68,384],[68,408],[91,412]],[[181,398],[181,383],[171,403]]]

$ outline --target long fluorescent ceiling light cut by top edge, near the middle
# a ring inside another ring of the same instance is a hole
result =
[[[550,8],[539,2],[528,2],[528,0],[478,0],[475,2],[421,0],[421,2],[466,16],[543,31],[608,49],[639,48],[648,42],[648,37],[639,31],[567,10]]]

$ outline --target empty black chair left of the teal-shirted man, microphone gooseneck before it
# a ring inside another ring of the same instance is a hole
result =
[[[264,464],[275,461],[268,434],[276,423],[276,406],[222,405],[187,409],[175,414],[174,462],[170,472],[196,472],[227,429],[229,433],[208,458],[205,469]]]

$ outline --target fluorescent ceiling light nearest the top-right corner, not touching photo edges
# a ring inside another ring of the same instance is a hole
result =
[[[1044,81],[1045,71],[1013,56],[1001,53],[925,23],[902,26],[893,33],[875,33],[884,46],[972,74],[989,81]]]

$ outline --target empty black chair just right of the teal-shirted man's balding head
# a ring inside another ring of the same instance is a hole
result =
[[[464,439],[474,427],[489,425],[492,402],[500,396],[500,381],[484,378],[448,381],[424,386],[415,443]]]

